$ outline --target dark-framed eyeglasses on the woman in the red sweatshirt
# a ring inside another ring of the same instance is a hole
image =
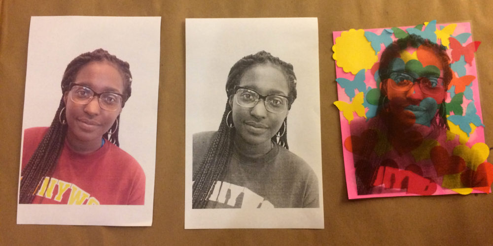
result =
[[[120,108],[123,95],[115,92],[96,93],[91,88],[73,83],[70,88],[70,100],[78,104],[88,104],[94,96],[99,97],[99,106],[107,111],[116,111]]]

